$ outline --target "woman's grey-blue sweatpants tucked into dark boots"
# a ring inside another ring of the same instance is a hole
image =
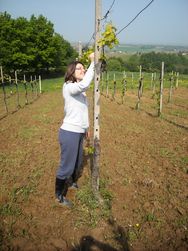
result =
[[[76,173],[82,169],[84,135],[84,133],[59,130],[61,160],[57,170],[57,178],[69,179],[71,176],[76,176]]]

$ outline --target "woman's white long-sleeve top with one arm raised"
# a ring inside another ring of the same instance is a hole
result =
[[[85,133],[89,127],[88,102],[85,91],[89,88],[94,76],[94,62],[92,62],[80,82],[64,83],[63,97],[64,120],[61,128],[66,131]]]

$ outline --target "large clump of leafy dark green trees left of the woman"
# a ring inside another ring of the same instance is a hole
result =
[[[77,57],[71,44],[42,15],[28,20],[0,13],[0,31],[0,65],[6,72],[63,73]]]

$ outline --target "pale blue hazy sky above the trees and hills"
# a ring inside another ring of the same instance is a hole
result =
[[[113,1],[101,0],[101,17]],[[101,21],[101,29],[112,22],[120,31],[150,1],[115,0],[107,18]],[[0,12],[4,11],[12,18],[42,14],[69,42],[88,43],[95,31],[95,0],[0,0]],[[118,39],[125,44],[188,46],[188,0],[154,0]]]

